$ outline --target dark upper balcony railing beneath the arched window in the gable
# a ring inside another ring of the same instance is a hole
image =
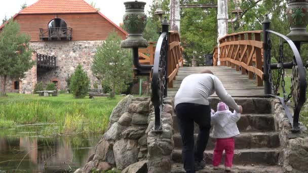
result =
[[[72,28],[40,28],[41,40],[71,40]]]

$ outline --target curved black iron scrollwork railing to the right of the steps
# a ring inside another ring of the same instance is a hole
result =
[[[303,66],[303,63],[301,61],[301,57],[298,51],[298,48],[295,46],[294,42],[288,38],[287,36],[280,34],[278,32],[272,31],[272,30],[266,30],[268,32],[268,38],[267,38],[267,50],[266,50],[266,65],[268,69],[268,74],[269,74],[269,81],[270,84],[274,90],[274,94],[277,94],[277,89],[279,87],[279,83],[281,80],[281,87],[283,91],[283,98],[280,98],[281,102],[285,106],[285,110],[287,110],[286,103],[290,100],[290,98],[293,98],[294,102],[294,115],[293,117],[289,112],[286,112],[288,119],[290,120],[290,123],[292,125],[292,132],[298,132],[299,131],[299,113],[300,109],[303,106],[306,98],[305,98],[305,93],[306,93],[306,78],[305,78],[305,68]],[[279,47],[279,60],[278,64],[271,64],[271,38],[270,38],[270,33],[275,34],[281,38],[280,41],[280,47]],[[289,44],[290,48],[293,51],[293,60],[292,62],[285,63],[284,62],[284,48],[283,48],[283,40]],[[291,66],[290,66],[291,65]],[[290,93],[287,94],[285,90],[285,68],[292,68],[292,76],[291,76],[291,86],[290,86]],[[277,85],[273,83],[273,79],[271,78],[271,70],[272,69],[278,69],[279,77],[277,81]]]

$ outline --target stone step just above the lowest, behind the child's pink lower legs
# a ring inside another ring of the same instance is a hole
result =
[[[277,165],[279,158],[279,148],[253,148],[253,149],[238,149],[234,151],[234,164],[264,164]],[[174,149],[171,154],[172,160],[177,163],[182,162],[182,150]],[[206,150],[204,158],[206,164],[212,163],[213,150]],[[222,163],[224,162],[224,154]]]

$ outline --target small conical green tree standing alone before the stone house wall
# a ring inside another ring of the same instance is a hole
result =
[[[69,90],[75,98],[84,98],[89,91],[90,79],[79,64],[70,76]]]

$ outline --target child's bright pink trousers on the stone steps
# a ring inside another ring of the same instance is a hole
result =
[[[216,139],[213,153],[213,166],[219,166],[223,150],[225,150],[224,166],[232,167],[234,138]]]

